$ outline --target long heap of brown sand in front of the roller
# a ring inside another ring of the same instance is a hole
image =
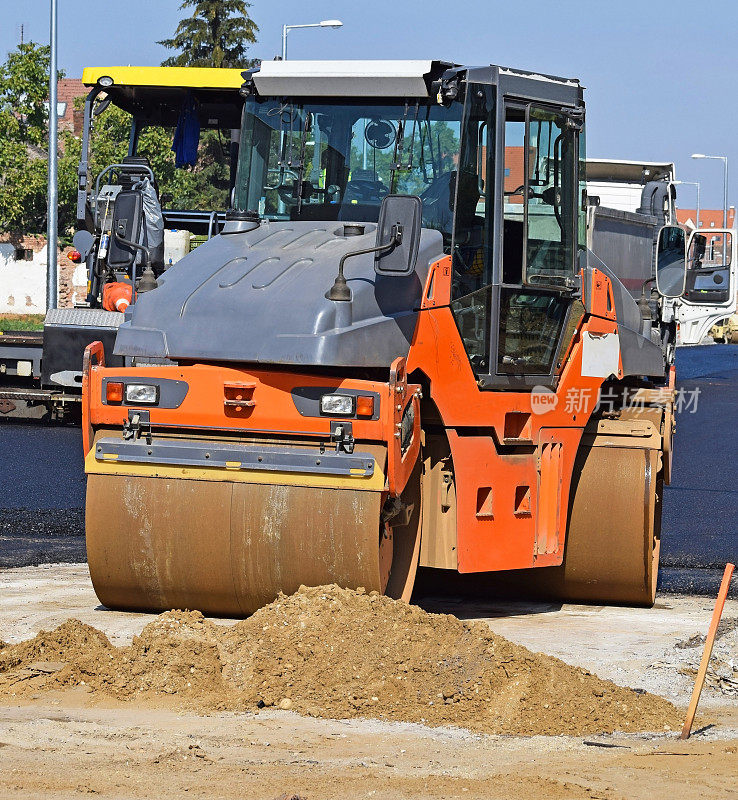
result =
[[[231,627],[168,612],[129,647],[69,620],[0,648],[0,695],[82,682],[121,699],[173,695],[203,710],[275,706],[488,733],[679,725],[666,700],[532,653],[483,623],[335,586],[303,587]]]

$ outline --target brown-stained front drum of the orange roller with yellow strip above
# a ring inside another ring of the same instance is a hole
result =
[[[98,598],[109,608],[233,616],[301,584],[409,599],[419,505],[411,524],[380,525],[386,451],[375,449],[368,480],[117,464],[91,453],[87,557]]]

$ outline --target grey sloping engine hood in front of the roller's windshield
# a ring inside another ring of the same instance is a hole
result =
[[[346,261],[351,302],[326,299],[344,253],[375,244],[376,225],[262,223],[221,234],[142,294],[118,330],[115,354],[304,366],[386,367],[407,355],[430,264],[443,254],[424,229],[413,275],[374,272],[372,255]]]

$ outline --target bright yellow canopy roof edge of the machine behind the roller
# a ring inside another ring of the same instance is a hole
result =
[[[112,78],[114,86],[170,86],[192,89],[240,89],[241,69],[215,67],[85,67],[82,83],[94,86]]]

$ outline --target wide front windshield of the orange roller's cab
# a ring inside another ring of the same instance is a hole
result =
[[[430,99],[300,103],[249,98],[236,205],[269,219],[376,222],[388,194],[423,200],[451,247],[462,106]]]

